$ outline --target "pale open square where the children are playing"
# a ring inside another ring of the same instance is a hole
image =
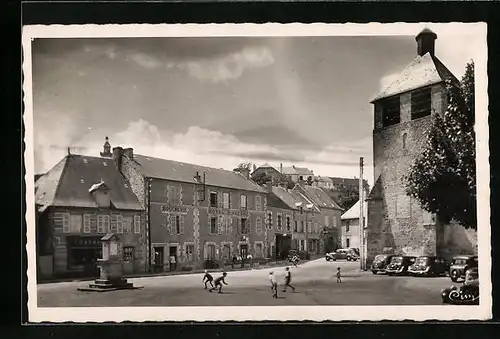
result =
[[[341,268],[342,283],[336,282]],[[274,271],[278,299],[272,298],[268,274]],[[94,306],[271,306],[271,305],[436,305],[440,291],[452,282],[447,277],[417,278],[373,275],[359,269],[359,262],[326,262],[318,259],[291,268],[295,292],[282,292],[285,269],[228,272],[221,294],[209,293],[203,274],[155,276],[129,279],[142,289],[82,292],[89,282],[38,285],[39,307]],[[221,273],[213,273],[218,277]]]

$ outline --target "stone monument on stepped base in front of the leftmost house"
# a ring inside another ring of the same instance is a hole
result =
[[[137,289],[142,286],[134,286],[123,278],[122,261],[118,249],[118,238],[115,234],[108,234],[102,239],[103,258],[98,259],[100,277],[90,283],[88,287],[79,287],[79,291],[106,292],[124,289]]]

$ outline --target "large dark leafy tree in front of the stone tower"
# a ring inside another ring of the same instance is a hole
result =
[[[421,154],[404,177],[406,193],[441,222],[477,227],[474,63],[459,86],[446,83],[444,115],[433,114]]]

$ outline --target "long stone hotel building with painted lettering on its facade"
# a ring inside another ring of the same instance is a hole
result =
[[[137,155],[113,158],[147,215],[150,265],[189,270],[267,252],[266,192],[240,173]]]

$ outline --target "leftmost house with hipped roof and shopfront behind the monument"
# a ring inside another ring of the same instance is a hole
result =
[[[146,271],[144,210],[109,158],[68,154],[35,183],[37,270],[43,279],[96,277],[113,232],[125,274]]]

